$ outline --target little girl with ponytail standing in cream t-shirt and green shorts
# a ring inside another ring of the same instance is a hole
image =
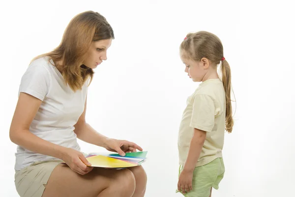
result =
[[[180,45],[185,72],[202,82],[188,97],[178,133],[177,192],[186,197],[211,197],[225,167],[222,148],[225,130],[233,129],[231,70],[220,39],[208,32],[189,33]],[[222,80],[217,74],[221,62]]]

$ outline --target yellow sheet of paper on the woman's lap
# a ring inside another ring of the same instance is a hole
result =
[[[114,158],[106,157],[103,155],[97,155],[97,156],[92,156],[89,158],[86,158],[91,166],[93,167],[133,167],[137,166],[138,164],[132,164],[129,162],[124,162],[121,160],[117,160]]]

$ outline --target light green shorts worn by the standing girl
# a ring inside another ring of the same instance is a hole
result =
[[[179,166],[179,172],[182,171],[183,166]],[[222,158],[217,158],[212,162],[195,167],[193,172],[193,190],[183,194],[185,197],[209,197],[210,190],[219,188],[219,183],[223,178],[225,167]],[[178,189],[176,193],[179,192]],[[181,193],[182,194],[182,193]]]

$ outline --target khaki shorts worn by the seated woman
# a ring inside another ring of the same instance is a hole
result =
[[[61,160],[35,162],[15,171],[15,187],[20,197],[42,197],[48,179]]]

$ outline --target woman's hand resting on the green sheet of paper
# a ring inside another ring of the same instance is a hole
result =
[[[111,138],[106,139],[104,148],[108,151],[117,152],[120,156],[125,156],[125,153],[136,152],[136,149],[140,151],[143,150],[134,142]]]

